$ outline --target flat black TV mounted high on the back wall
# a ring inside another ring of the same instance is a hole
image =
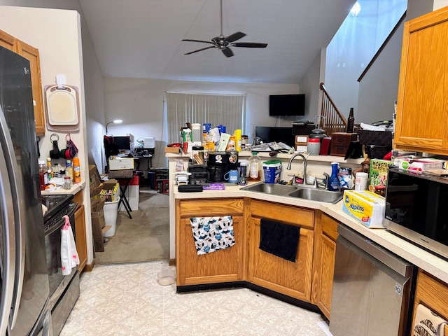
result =
[[[304,116],[305,94],[275,94],[269,96],[269,116]]]

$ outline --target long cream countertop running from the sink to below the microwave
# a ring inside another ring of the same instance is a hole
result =
[[[249,183],[253,184],[253,183]],[[251,197],[256,200],[264,200],[269,202],[278,202],[282,204],[290,204],[297,207],[306,207],[309,209],[321,210],[328,216],[335,218],[337,221],[344,223],[349,228],[356,230],[361,235],[372,239],[377,244],[383,246],[389,251],[399,255],[401,258],[420,267],[426,272],[433,274],[438,279],[448,283],[448,261],[439,258],[433,253],[419,248],[408,241],[397,237],[386,229],[370,229],[359,223],[354,218],[342,211],[342,201],[337,204],[328,204],[323,202],[314,202],[301,200],[292,197],[283,197],[269,195],[264,193],[255,193],[252,191],[241,190],[242,186],[226,186],[225,190],[204,190],[202,193],[179,193],[177,186],[174,186],[174,198],[177,200],[191,200],[204,198],[228,198],[228,197]]]

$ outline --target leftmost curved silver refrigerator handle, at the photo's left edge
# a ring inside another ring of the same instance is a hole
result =
[[[10,188],[10,176],[6,155],[3,148],[5,145],[6,120],[0,107],[0,207],[1,225],[3,226],[3,251],[1,251],[1,299],[0,299],[0,335],[6,335],[10,316],[11,304],[15,290],[15,218],[13,193]],[[6,128],[6,131],[8,129]]]

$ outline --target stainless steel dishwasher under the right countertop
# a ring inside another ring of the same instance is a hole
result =
[[[405,335],[413,265],[345,225],[337,232],[330,332]]]

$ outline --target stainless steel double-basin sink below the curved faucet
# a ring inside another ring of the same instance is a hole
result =
[[[343,193],[337,191],[264,182],[241,188],[241,190],[331,204],[339,202],[343,197]]]

